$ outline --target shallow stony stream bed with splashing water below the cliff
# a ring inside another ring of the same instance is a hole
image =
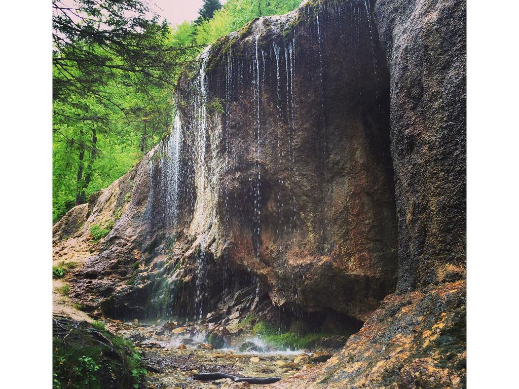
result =
[[[198,381],[193,376],[224,372],[241,377],[281,377],[283,380],[325,362],[332,355],[332,350],[276,350],[247,334],[233,336],[224,348],[213,349],[206,343],[206,331],[193,325],[164,330],[165,325],[160,322],[122,323],[111,319],[107,319],[105,325],[106,329],[133,343],[148,370],[146,382],[141,387],[149,389],[268,387],[235,383],[230,379]],[[240,352],[239,345],[248,345],[248,350],[241,348]]]

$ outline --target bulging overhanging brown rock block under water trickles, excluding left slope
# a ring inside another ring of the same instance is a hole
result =
[[[362,320],[397,269],[389,74],[365,6],[251,23],[204,53],[179,102],[198,153],[181,152],[197,166],[189,233],[278,307]]]

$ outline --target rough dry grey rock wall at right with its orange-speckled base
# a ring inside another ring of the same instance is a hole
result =
[[[398,293],[276,388],[466,387],[466,3],[378,0],[391,75]]]

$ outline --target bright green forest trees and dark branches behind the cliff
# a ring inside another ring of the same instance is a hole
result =
[[[158,143],[178,76],[205,46],[301,0],[206,3],[195,22],[170,27],[147,2],[53,0],[53,223]]]

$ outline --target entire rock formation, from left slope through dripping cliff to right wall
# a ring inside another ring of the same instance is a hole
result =
[[[85,259],[71,296],[365,322],[272,387],[463,386],[465,25],[460,0],[322,0],[219,40],[170,136],[56,226],[54,259]]]

